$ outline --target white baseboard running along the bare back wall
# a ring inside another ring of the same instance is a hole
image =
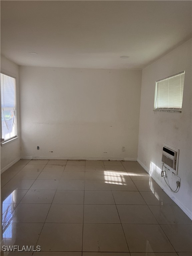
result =
[[[50,157],[50,156],[23,156],[21,159],[51,159],[51,160],[113,160],[113,161],[137,161],[137,158],[120,157]]]

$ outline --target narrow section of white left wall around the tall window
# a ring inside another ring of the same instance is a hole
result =
[[[1,56],[1,72],[16,78],[17,89],[17,128],[19,136],[19,67],[12,61]],[[20,159],[20,138],[16,138],[1,147],[1,173]]]

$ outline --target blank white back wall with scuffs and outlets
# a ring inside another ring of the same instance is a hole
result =
[[[22,158],[137,159],[141,70],[19,73]]]

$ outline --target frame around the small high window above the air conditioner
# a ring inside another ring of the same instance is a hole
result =
[[[176,112],[176,113],[181,113],[182,112],[182,107],[181,108],[156,108],[156,103],[157,103],[157,83],[164,81],[166,79],[179,76],[181,74],[184,74],[184,82],[185,82],[185,71],[179,72],[177,74],[165,77],[163,79],[157,80],[155,82],[155,99],[154,99],[154,110],[153,111],[160,111],[160,112]],[[183,84],[183,91],[184,91],[184,84]],[[182,99],[182,105],[183,105],[183,99]]]

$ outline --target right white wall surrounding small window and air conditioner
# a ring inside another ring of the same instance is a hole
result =
[[[182,113],[154,113],[155,81],[184,70]],[[138,161],[192,218],[191,70],[191,40],[143,69]],[[181,178],[181,187],[178,193],[170,192],[159,174],[164,142],[180,149],[178,176]]]

